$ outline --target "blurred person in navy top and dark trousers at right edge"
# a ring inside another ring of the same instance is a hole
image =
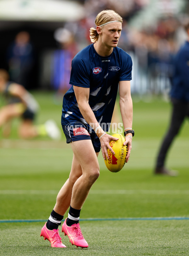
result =
[[[177,175],[176,171],[168,170],[165,167],[165,159],[171,143],[180,131],[181,125],[186,117],[189,117],[189,22],[186,24],[185,30],[188,40],[181,46],[175,56],[174,74],[171,79],[172,87],[170,91],[172,116],[168,131],[159,149],[155,174]]]

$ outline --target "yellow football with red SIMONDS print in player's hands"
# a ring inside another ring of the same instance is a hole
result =
[[[113,155],[110,149],[108,149],[108,155],[110,159],[108,160],[106,158],[106,160],[104,161],[105,161],[106,167],[110,172],[119,172],[123,168],[126,162],[125,157],[127,155],[128,148],[127,148],[127,145],[123,146],[123,142],[125,141],[125,138],[123,137],[122,134],[116,133],[112,136],[118,138],[117,141],[114,141],[114,140],[110,141],[110,147],[115,152],[115,155]]]

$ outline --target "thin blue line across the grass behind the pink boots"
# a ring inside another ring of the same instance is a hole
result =
[[[117,221],[117,220],[189,220],[189,217],[154,217],[154,218],[81,218],[80,221]],[[46,222],[47,219],[0,219],[0,223]],[[64,221],[64,219],[62,220]]]

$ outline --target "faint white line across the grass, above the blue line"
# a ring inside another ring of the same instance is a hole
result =
[[[0,195],[55,195],[59,190],[12,190],[5,189],[0,190]],[[124,190],[124,189],[98,189],[91,190],[92,195],[189,195],[189,190],[150,190],[150,189],[138,189],[138,190]]]

